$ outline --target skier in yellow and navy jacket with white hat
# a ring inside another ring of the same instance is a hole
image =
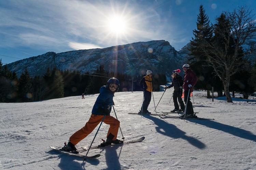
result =
[[[144,113],[144,114],[150,114],[150,112],[148,112],[147,107],[150,104],[151,101],[151,95],[152,95],[152,91],[153,91],[153,85],[152,85],[152,71],[147,70],[147,75],[145,77],[143,77],[140,81],[140,87],[141,89],[143,89],[143,103],[142,103],[142,107],[139,113]]]

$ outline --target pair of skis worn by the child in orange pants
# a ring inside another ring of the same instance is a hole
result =
[[[141,137],[141,138],[135,139],[135,140],[124,141],[124,143],[118,143],[118,144],[113,144],[113,143],[112,143],[112,145],[108,145],[108,146],[105,146],[105,147],[111,147],[111,146],[115,146],[115,145],[122,145],[122,144],[126,144],[126,143],[141,142],[141,141],[143,141],[144,139],[145,139],[145,137]],[[105,148],[105,147],[92,146],[90,149],[99,149],[99,148]],[[65,152],[65,153],[70,153],[70,154],[82,156],[82,159],[83,159],[84,161],[86,160],[86,158],[98,158],[98,157],[100,157],[100,154],[96,154],[96,155],[93,155],[93,156],[86,156],[86,157],[85,157],[85,155],[81,155],[81,154],[77,154],[77,153],[65,151],[65,150],[62,150],[62,149],[57,149],[57,148],[55,148],[55,147],[52,146],[52,145],[50,146],[50,148],[53,149],[53,150],[57,150],[57,151]],[[82,149],[88,150],[87,147],[82,147]]]

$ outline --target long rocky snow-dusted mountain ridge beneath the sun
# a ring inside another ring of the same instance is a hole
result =
[[[62,53],[47,52],[8,64],[11,71],[19,76],[27,68],[31,76],[43,75],[47,67],[60,70],[78,70],[81,73],[94,72],[100,65],[107,71],[131,75],[165,73],[181,69],[186,60],[168,41],[154,40],[103,49],[76,50]]]

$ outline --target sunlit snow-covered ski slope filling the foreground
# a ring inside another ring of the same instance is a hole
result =
[[[158,112],[174,108],[172,92],[173,88],[164,95],[153,92],[155,105],[162,97]],[[194,111],[215,120],[131,115],[139,111],[143,92],[117,92],[114,108],[125,140],[145,136],[144,141],[90,150],[88,156],[101,156],[84,163],[80,156],[51,150],[50,145],[62,147],[85,125],[97,96],[0,103],[0,169],[256,169],[256,98],[232,98],[233,103],[227,103],[222,97],[212,102],[200,91],[194,92]],[[154,111],[153,98],[148,110]],[[115,117],[113,109],[111,115]],[[106,138],[108,128],[102,124],[93,146]],[[77,149],[88,147],[97,129]]]

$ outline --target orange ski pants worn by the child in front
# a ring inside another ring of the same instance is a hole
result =
[[[91,114],[91,117],[88,120],[88,122],[85,124],[85,126],[82,129],[75,132],[69,138],[69,141],[73,145],[76,145],[78,142],[83,140],[87,135],[89,135],[91,132],[93,132],[93,130],[97,127],[97,125],[102,121],[103,117],[104,117],[104,115]],[[112,135],[114,135],[114,138],[112,140],[116,140],[118,129],[120,126],[119,120],[115,119],[114,117],[112,117],[110,115],[107,115],[107,116],[105,116],[103,122],[110,125],[107,137],[111,133]]]

